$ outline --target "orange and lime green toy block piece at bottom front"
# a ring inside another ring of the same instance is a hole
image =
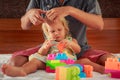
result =
[[[60,66],[56,68],[56,80],[80,80],[77,66]]]

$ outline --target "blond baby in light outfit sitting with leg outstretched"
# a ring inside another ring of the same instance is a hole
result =
[[[26,76],[38,69],[45,69],[46,56],[59,52],[58,44],[64,44],[64,51],[67,51],[68,58],[76,59],[76,53],[81,51],[76,39],[69,34],[68,23],[65,18],[60,18],[56,21],[47,20],[42,24],[42,29],[45,34],[45,41],[37,53],[29,57],[29,61],[21,67],[16,67],[8,64],[2,65],[2,72],[8,76]]]

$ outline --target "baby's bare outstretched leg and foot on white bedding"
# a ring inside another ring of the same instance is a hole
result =
[[[45,64],[37,59],[32,59],[31,61],[24,64],[22,67],[15,67],[12,65],[4,64],[2,66],[2,71],[8,76],[25,76],[32,72],[35,72],[39,68],[45,67]]]

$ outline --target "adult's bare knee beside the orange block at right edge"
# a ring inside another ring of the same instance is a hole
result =
[[[107,58],[115,58],[115,56],[113,56],[111,53],[106,53],[97,60],[97,63],[105,66],[105,61],[107,60]]]

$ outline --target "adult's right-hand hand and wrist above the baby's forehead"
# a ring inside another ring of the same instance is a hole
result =
[[[53,8],[46,12],[46,17],[49,20],[55,21],[57,18],[70,15],[70,12],[71,12],[71,6]]]

